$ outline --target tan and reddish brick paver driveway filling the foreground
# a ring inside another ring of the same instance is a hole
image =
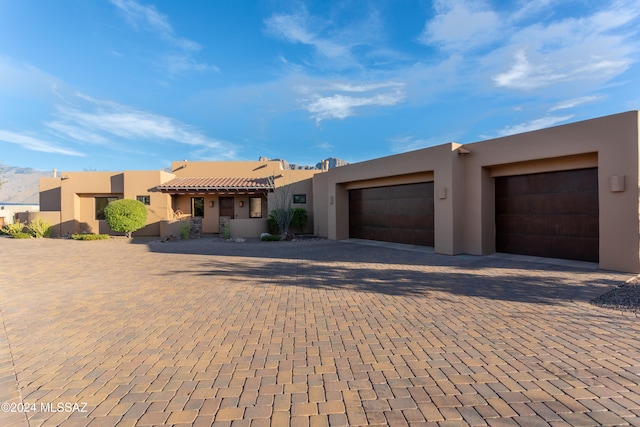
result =
[[[28,405],[2,426],[640,425],[640,320],[586,303],[629,275],[330,241],[0,251],[0,401]]]

